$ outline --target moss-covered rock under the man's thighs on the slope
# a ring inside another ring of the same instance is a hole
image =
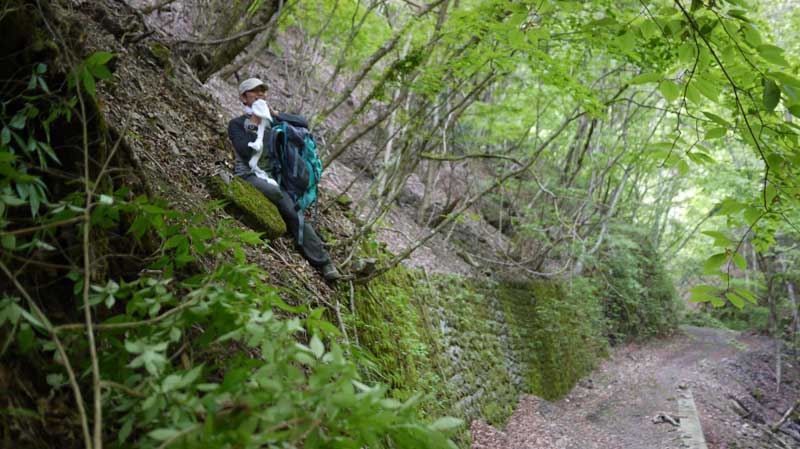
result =
[[[208,187],[217,198],[229,201],[226,210],[272,240],[286,233],[286,223],[278,208],[255,187],[228,173],[208,178]]]

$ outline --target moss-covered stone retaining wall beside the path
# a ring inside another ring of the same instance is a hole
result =
[[[356,288],[346,324],[369,380],[426,394],[423,413],[503,425],[520,394],[560,397],[605,353],[602,308],[566,287],[396,269]]]

